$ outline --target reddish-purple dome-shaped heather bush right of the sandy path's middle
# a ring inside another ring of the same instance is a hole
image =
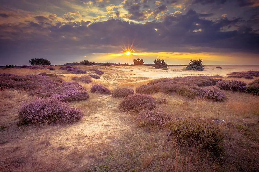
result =
[[[152,110],[156,107],[153,97],[145,94],[129,95],[121,101],[119,109],[121,111],[140,112],[142,110]]]

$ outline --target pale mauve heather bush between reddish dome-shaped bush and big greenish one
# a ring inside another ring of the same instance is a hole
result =
[[[153,110],[142,110],[138,115],[138,120],[142,127],[149,126],[163,128],[164,124],[171,120],[171,117],[166,112],[158,108]]]

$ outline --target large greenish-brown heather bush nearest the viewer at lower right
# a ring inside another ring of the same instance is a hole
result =
[[[200,148],[210,148],[221,151],[222,135],[219,128],[205,119],[181,119],[166,124],[170,130],[168,136],[181,144],[195,144]]]

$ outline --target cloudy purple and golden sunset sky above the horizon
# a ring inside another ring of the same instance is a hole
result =
[[[1,0],[0,65],[32,58],[259,65],[259,0]]]

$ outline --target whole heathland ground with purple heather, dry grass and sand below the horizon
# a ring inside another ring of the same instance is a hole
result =
[[[0,69],[0,171],[259,171],[259,66],[217,66]]]

